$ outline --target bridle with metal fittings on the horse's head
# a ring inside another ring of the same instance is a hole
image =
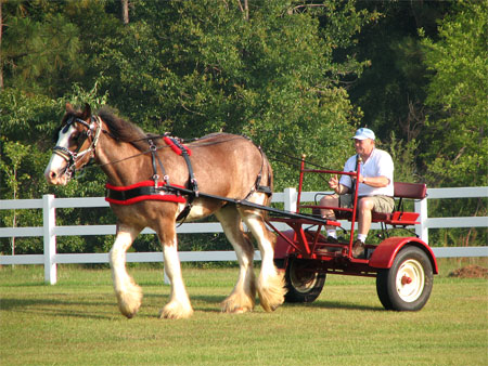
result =
[[[66,125],[63,127],[62,132],[66,133],[69,129],[69,127],[73,123],[81,123],[87,128],[85,130],[79,140],[78,140],[78,147],[76,151],[72,152],[70,149],[64,147],[64,146],[54,146],[52,152],[53,154],[56,154],[61,156],[64,160],[67,162],[67,167],[65,169],[65,174],[67,175],[68,180],[72,179],[73,174],[76,171],[76,164],[84,158],[87,154],[90,154],[90,158],[94,157],[97,144],[99,143],[100,133],[102,132],[102,122],[100,120],[99,116],[91,116],[90,123],[86,122],[85,120],[72,117],[68,119]],[[85,144],[85,141],[92,136],[91,144],[84,151],[81,149],[81,146]],[[88,164],[88,162],[87,162]],[[86,165],[87,165],[86,164]],[[84,165],[84,166],[86,166]],[[82,168],[82,167],[80,167]]]

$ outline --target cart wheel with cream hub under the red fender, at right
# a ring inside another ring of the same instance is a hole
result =
[[[376,276],[376,291],[386,310],[418,311],[427,302],[433,286],[432,263],[418,247],[400,250],[389,270]]]

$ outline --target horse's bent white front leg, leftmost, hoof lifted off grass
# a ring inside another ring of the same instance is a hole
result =
[[[126,270],[126,251],[132,245],[140,230],[117,225],[114,246],[110,252],[112,279],[118,301],[118,309],[128,318],[136,315],[142,301],[142,290]]]

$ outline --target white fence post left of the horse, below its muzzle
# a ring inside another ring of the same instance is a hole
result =
[[[42,196],[43,237],[44,237],[44,282],[55,285],[57,282],[56,236],[56,209],[54,208],[54,195]]]

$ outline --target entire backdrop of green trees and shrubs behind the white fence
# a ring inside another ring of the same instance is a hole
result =
[[[124,25],[119,0],[0,1],[0,199],[104,194],[99,169],[87,169],[66,187],[48,187],[42,177],[68,101],[93,109],[110,104],[147,132],[249,135],[273,165],[275,191],[297,185],[292,157],[305,154],[310,162],[342,169],[359,125],[373,128],[380,147],[390,152],[397,180],[487,184],[486,3],[130,4]],[[305,185],[324,187],[318,177]],[[0,220],[30,226],[42,218],[1,211]],[[57,220],[115,219],[107,210],[72,209],[59,210]],[[60,237],[59,248],[106,251],[111,240]],[[223,247],[221,236],[183,236],[180,244]],[[9,246],[0,239],[0,251]],[[39,238],[16,239],[18,252],[41,247]],[[137,250],[157,247],[153,236],[134,244]]]

